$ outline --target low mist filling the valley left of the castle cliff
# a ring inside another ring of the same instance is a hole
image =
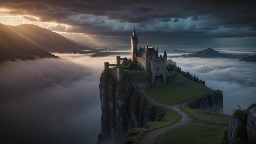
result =
[[[1,127],[7,137],[42,143],[96,143],[101,131],[99,79],[114,57],[55,54],[0,65]],[[62,139],[62,140],[61,140]]]

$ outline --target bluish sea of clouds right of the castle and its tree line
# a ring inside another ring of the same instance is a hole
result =
[[[256,63],[233,58],[171,58],[183,71],[189,71],[206,86],[223,91],[225,114],[232,115],[240,105],[247,108],[256,102]]]

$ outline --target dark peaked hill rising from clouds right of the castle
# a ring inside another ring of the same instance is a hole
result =
[[[228,56],[223,55],[211,48],[207,48],[206,50],[199,51],[195,54],[188,54],[188,55],[183,54],[181,56],[182,57],[225,57],[225,58],[228,58]]]

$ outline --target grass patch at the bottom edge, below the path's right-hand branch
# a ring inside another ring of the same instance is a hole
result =
[[[165,132],[158,144],[219,144],[224,128],[190,124]]]

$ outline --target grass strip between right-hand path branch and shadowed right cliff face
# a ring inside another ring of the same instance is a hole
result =
[[[201,121],[209,122],[212,124],[229,125],[232,120],[232,116],[219,114],[217,112],[210,112],[202,109],[191,109],[188,106],[182,106],[181,109],[193,118],[197,118]]]

